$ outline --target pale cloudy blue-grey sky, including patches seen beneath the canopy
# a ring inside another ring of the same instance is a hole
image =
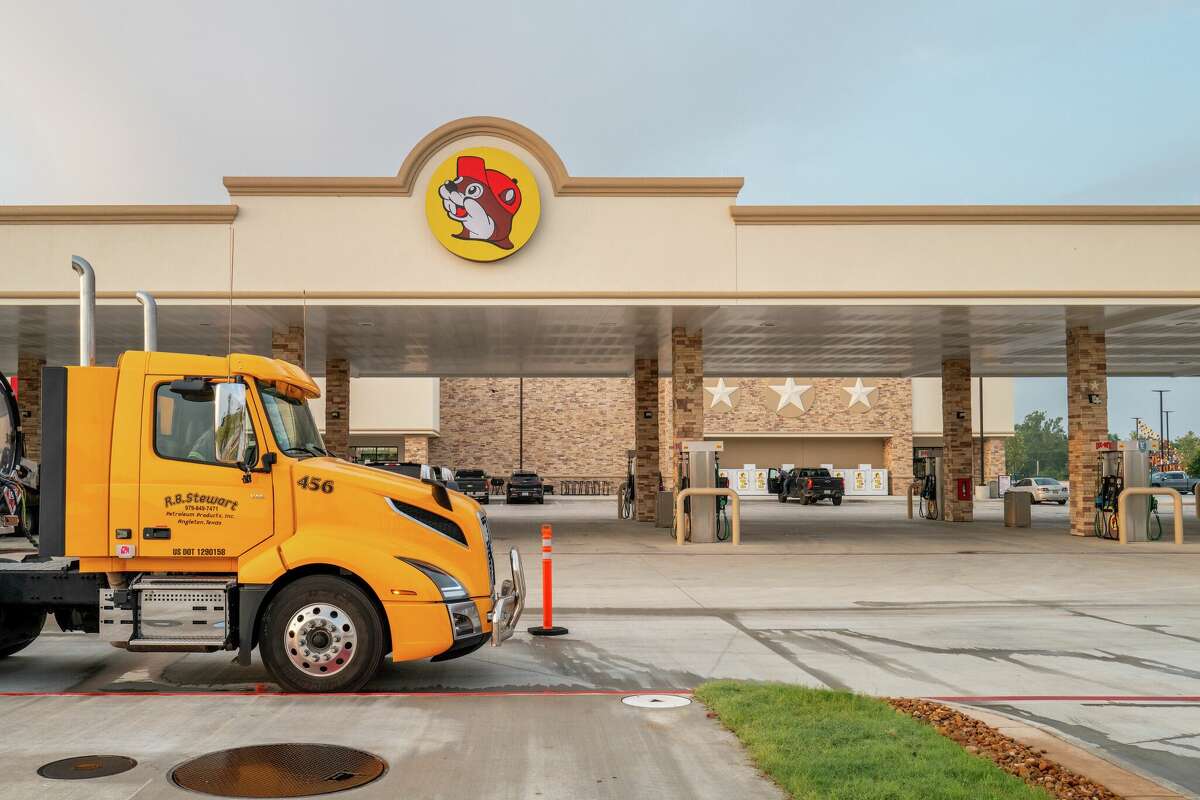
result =
[[[0,203],[223,203],[517,120],[739,203],[1200,203],[1200,2],[0,0]],[[1054,411],[1054,381],[1019,381]],[[1200,381],[1172,431],[1200,429]],[[1110,416],[1153,413],[1110,381]],[[1153,403],[1151,403],[1153,401]],[[1151,408],[1153,405],[1153,408]],[[1121,422],[1120,425],[1123,425]]]

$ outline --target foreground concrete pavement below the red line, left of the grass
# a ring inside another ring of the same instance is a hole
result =
[[[619,696],[589,697],[210,697],[11,698],[10,733],[32,732],[0,753],[6,798],[181,800],[170,770],[245,745],[320,742],[389,764],[378,781],[338,798],[745,798],[781,800],[732,734],[698,703],[644,710]],[[128,754],[128,772],[47,781],[37,768],[85,753]]]

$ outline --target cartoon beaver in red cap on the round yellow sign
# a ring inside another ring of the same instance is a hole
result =
[[[512,249],[512,217],[521,207],[517,182],[487,169],[479,156],[458,156],[458,175],[438,187],[446,216],[462,223],[455,239],[486,241]]]

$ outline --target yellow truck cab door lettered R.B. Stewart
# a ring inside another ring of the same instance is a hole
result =
[[[238,558],[271,536],[271,476],[251,473],[246,482],[242,469],[217,462],[211,384],[197,391],[199,381],[182,378],[146,377],[137,554]],[[253,414],[248,425],[245,462],[256,464]]]

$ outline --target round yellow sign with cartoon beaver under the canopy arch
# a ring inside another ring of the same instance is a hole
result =
[[[541,196],[533,173],[512,154],[468,148],[433,170],[425,216],[437,240],[455,255],[498,261],[533,236]]]

